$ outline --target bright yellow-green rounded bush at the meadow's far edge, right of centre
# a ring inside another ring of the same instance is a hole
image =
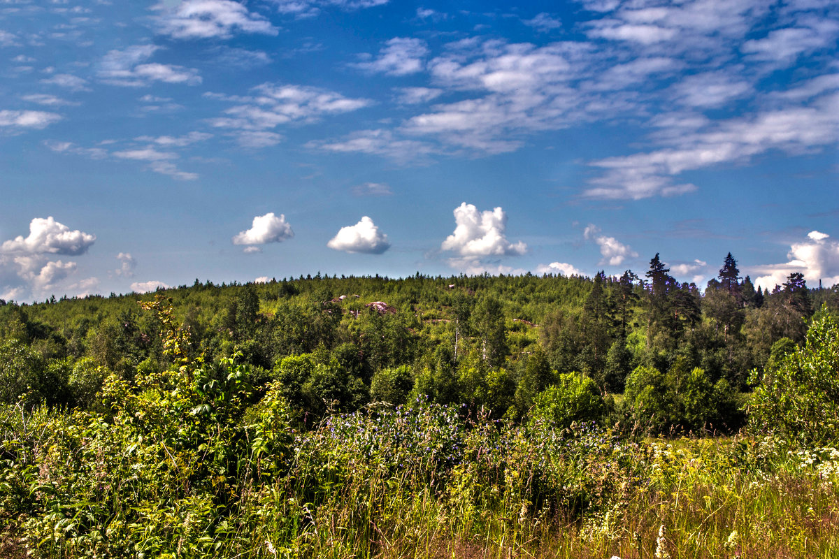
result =
[[[563,429],[571,422],[599,421],[605,413],[606,405],[594,380],[568,373],[558,375],[555,385],[536,395],[530,418]]]

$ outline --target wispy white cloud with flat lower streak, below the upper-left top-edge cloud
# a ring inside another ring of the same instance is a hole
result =
[[[194,68],[176,65],[140,64],[149,60],[160,47],[138,44],[128,49],[111,50],[102,58],[98,75],[107,84],[141,87],[154,81],[169,84],[198,85],[201,76]]]

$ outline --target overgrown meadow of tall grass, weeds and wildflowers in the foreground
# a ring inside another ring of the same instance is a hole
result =
[[[257,416],[225,469],[177,429],[5,408],[0,556],[839,556],[832,448],[632,440],[424,402],[305,432],[274,417],[272,446]]]

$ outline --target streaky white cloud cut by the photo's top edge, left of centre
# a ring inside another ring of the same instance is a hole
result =
[[[159,3],[159,33],[174,39],[228,39],[234,32],[276,35],[275,28],[259,13],[232,0],[185,0],[175,8]]]

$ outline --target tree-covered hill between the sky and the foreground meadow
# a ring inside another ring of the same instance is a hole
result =
[[[110,373],[133,380],[177,365],[159,335],[168,326],[138,305],[155,297],[185,333],[183,359],[240,355],[253,386],[280,381],[301,422],[419,394],[523,418],[534,404],[574,408],[557,403],[567,394],[556,386],[596,386],[603,409],[658,431],[741,425],[750,371],[782,360],[811,319],[839,308],[839,291],[810,289],[798,272],[772,292],[755,288],[731,253],[704,293],[659,254],[643,276],[196,279],[143,295],[3,302],[0,401],[96,406]]]

